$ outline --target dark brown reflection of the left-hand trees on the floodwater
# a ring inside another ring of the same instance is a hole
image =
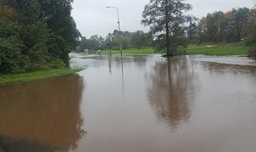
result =
[[[0,149],[76,149],[84,135],[79,110],[82,90],[79,76],[0,87]]]

